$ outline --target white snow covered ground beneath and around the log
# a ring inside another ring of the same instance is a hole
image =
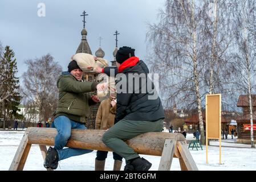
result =
[[[18,145],[21,142],[24,131],[0,131],[0,170],[8,170],[10,164],[14,158],[17,151]],[[192,140],[193,135],[188,134],[186,139]],[[248,144],[238,144],[234,143],[234,139],[229,136],[228,139],[222,142],[221,150],[221,162],[219,164],[219,148],[218,142],[211,141],[211,146],[208,147],[208,162],[206,164],[206,148],[203,146],[203,150],[191,150],[190,152],[193,156],[194,162],[196,162],[197,167],[201,171],[250,171],[256,170],[256,149],[250,148]],[[152,163],[150,170],[157,170],[160,163],[160,156],[149,156],[141,155],[145,159]],[[60,161],[59,167],[56,170],[94,170],[94,161],[96,157],[96,151],[90,154],[85,154],[81,156],[74,156],[69,159]],[[123,159],[124,161],[124,159]],[[123,169],[125,162],[123,162]],[[108,158],[105,164],[105,170],[112,170],[113,159],[112,152],[109,152]],[[27,162],[25,164],[24,170],[46,170],[43,167],[43,158],[38,145],[32,145],[30,149]],[[171,170],[179,171],[180,163],[177,158],[173,159]]]

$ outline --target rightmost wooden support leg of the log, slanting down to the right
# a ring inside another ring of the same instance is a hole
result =
[[[198,171],[196,163],[194,162],[192,155],[190,154],[188,148],[186,147],[186,143],[177,142],[177,147],[181,155],[181,159],[180,159],[180,163],[182,163],[181,170],[186,168],[189,171]]]

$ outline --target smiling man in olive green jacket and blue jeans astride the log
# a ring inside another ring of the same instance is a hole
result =
[[[97,96],[89,96],[87,92],[101,89],[102,84],[83,80],[82,69],[76,61],[72,60],[68,65],[68,72],[62,72],[57,81],[59,89],[58,107],[54,113],[54,122],[58,134],[55,137],[54,148],[49,147],[44,162],[45,168],[56,169],[59,160],[71,156],[87,154],[92,150],[79,148],[64,148],[71,135],[71,129],[87,129],[84,126],[89,115],[91,105],[99,102]]]

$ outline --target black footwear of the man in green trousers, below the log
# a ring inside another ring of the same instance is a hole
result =
[[[137,158],[124,167],[124,171],[148,171],[152,164],[144,158]]]

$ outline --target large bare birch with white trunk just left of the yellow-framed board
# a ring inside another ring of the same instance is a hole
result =
[[[184,108],[197,107],[201,142],[205,144],[202,15],[198,1],[166,0],[165,10],[159,14],[159,23],[149,25],[147,37],[153,45],[153,54],[148,61],[152,71],[160,75],[160,86],[166,100],[176,100]]]

